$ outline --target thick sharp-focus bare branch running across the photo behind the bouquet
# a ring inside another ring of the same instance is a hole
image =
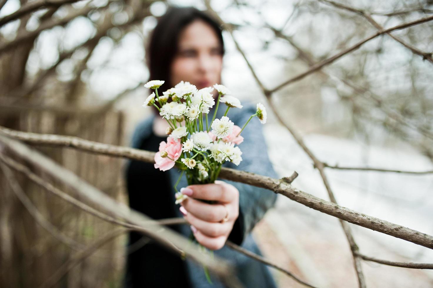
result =
[[[14,133],[10,133],[14,132]],[[50,134],[37,134],[37,133],[26,133],[19,132],[16,133],[15,130],[7,129],[0,126],[0,134],[7,135],[16,139],[20,139],[25,142],[33,143],[33,144],[45,144],[45,145],[56,145],[56,146],[67,146],[67,147],[75,147],[93,153],[99,153],[103,155],[111,155],[116,157],[125,157],[129,159],[135,159],[143,162],[154,162],[155,152],[134,149],[123,146],[115,146],[108,145],[99,142],[92,142],[80,139],[78,137],[70,137],[70,136],[59,136],[59,135],[50,135]],[[29,137],[26,136],[29,135]],[[39,137],[38,137],[39,135]],[[0,142],[5,143],[6,139],[3,136],[0,136]],[[71,145],[70,139],[74,139],[74,146]],[[43,140],[42,140],[43,139]],[[11,139],[7,139],[7,141],[13,141]],[[16,145],[19,145],[19,142]],[[22,145],[22,144],[21,144]],[[15,147],[7,145],[13,151],[15,151]],[[21,146],[19,146],[21,147]],[[41,168],[42,170],[45,170]],[[426,233],[421,233],[416,230],[412,230],[407,227],[403,227],[385,220],[381,220],[379,218],[371,217],[366,214],[359,213],[355,210],[348,209],[343,206],[339,206],[332,202],[320,199],[311,194],[307,194],[303,191],[298,190],[297,188],[292,187],[286,181],[282,179],[275,179],[267,176],[257,175],[251,172],[239,171],[230,168],[222,168],[220,177],[232,180],[240,183],[250,184],[256,187],[265,188],[275,193],[283,194],[284,196],[294,200],[298,203],[301,203],[307,207],[313,208],[325,214],[337,217],[341,220],[345,220],[347,222],[372,229],[381,233],[385,233],[400,239],[404,239],[406,241],[433,249],[433,236],[430,236]],[[119,212],[120,213],[120,212]],[[125,218],[126,219],[126,218]]]

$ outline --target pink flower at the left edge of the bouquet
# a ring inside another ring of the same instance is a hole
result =
[[[161,152],[163,151],[168,153],[167,157],[165,158],[161,157]],[[159,152],[156,152],[155,154],[155,168],[159,168],[161,171],[167,171],[168,169],[173,168],[174,161],[178,160],[181,154],[181,139],[167,137],[167,143],[164,141],[159,143]]]

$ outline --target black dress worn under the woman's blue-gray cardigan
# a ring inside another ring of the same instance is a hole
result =
[[[157,152],[159,143],[166,140],[167,136],[159,137],[152,132],[143,139],[140,149]],[[152,187],[149,179],[158,183],[158,189]],[[173,188],[168,173],[155,169],[152,163],[131,161],[126,170],[126,185],[132,209],[153,219],[176,217],[176,208],[170,205],[175,199],[170,193]],[[178,225],[170,228],[180,233]],[[153,240],[146,241],[148,238],[140,233],[129,233],[125,287],[190,287],[185,262]],[[140,242],[146,244],[136,249]]]

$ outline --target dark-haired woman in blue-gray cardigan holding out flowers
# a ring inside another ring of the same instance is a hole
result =
[[[223,54],[222,32],[216,21],[195,8],[171,7],[159,19],[149,42],[149,80],[165,81],[159,91],[174,87],[180,81],[188,81],[197,89],[220,84]],[[229,113],[230,119],[239,126],[255,113],[255,105],[242,104],[242,109],[232,109]],[[217,111],[217,118],[223,116],[224,110]],[[213,109],[210,110],[212,114]],[[167,139],[167,126],[167,122],[155,113],[136,127],[132,146],[158,151],[159,143]],[[239,145],[243,152],[241,164],[234,166],[227,162],[224,166],[276,177],[259,121],[251,121],[242,136],[245,141]],[[178,187],[185,187],[183,193],[189,194],[190,198],[179,207],[174,204],[173,184],[179,176],[176,170],[172,168],[162,172],[153,164],[130,161],[126,169],[130,206],[154,219],[183,216],[191,225],[173,229],[184,236],[193,231],[201,245],[215,250],[215,255],[235,265],[236,275],[246,287],[275,287],[265,265],[223,246],[229,239],[260,254],[250,232],[266,210],[273,206],[276,194],[233,181],[186,187],[186,179],[182,179]],[[145,188],[149,187],[150,180],[158,183],[158,191]],[[207,204],[196,199],[216,200],[219,204]],[[222,221],[224,218],[227,220]],[[139,233],[130,233],[129,250],[140,247],[143,239]],[[208,284],[203,267],[189,259],[181,260],[155,242],[147,243],[128,255],[126,287],[224,287],[217,278],[212,277],[212,281],[213,285]]]

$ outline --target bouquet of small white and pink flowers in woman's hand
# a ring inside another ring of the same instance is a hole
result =
[[[179,204],[188,197],[177,189],[184,172],[188,185],[214,183],[224,162],[239,165],[242,161],[242,151],[236,145],[244,140],[241,133],[249,121],[257,116],[260,122],[265,124],[267,116],[265,107],[259,103],[255,114],[240,128],[229,119],[227,113],[231,108],[241,109],[242,105],[239,99],[229,95],[230,92],[225,86],[215,84],[213,87],[198,90],[195,85],[181,81],[160,96],[158,88],[164,82],[152,80],[144,85],[155,91],[147,97],[143,107],[156,107],[168,122],[167,142],[162,141],[159,144],[159,152],[155,154],[155,168],[166,171],[176,166],[181,170],[181,175],[174,185],[175,203]],[[211,94],[214,89],[218,91],[216,103]],[[220,103],[226,104],[226,111],[221,119],[215,119]],[[215,104],[213,117],[209,121],[210,108]],[[194,235],[191,235],[191,239],[194,239]],[[210,280],[208,273],[206,275]]]

